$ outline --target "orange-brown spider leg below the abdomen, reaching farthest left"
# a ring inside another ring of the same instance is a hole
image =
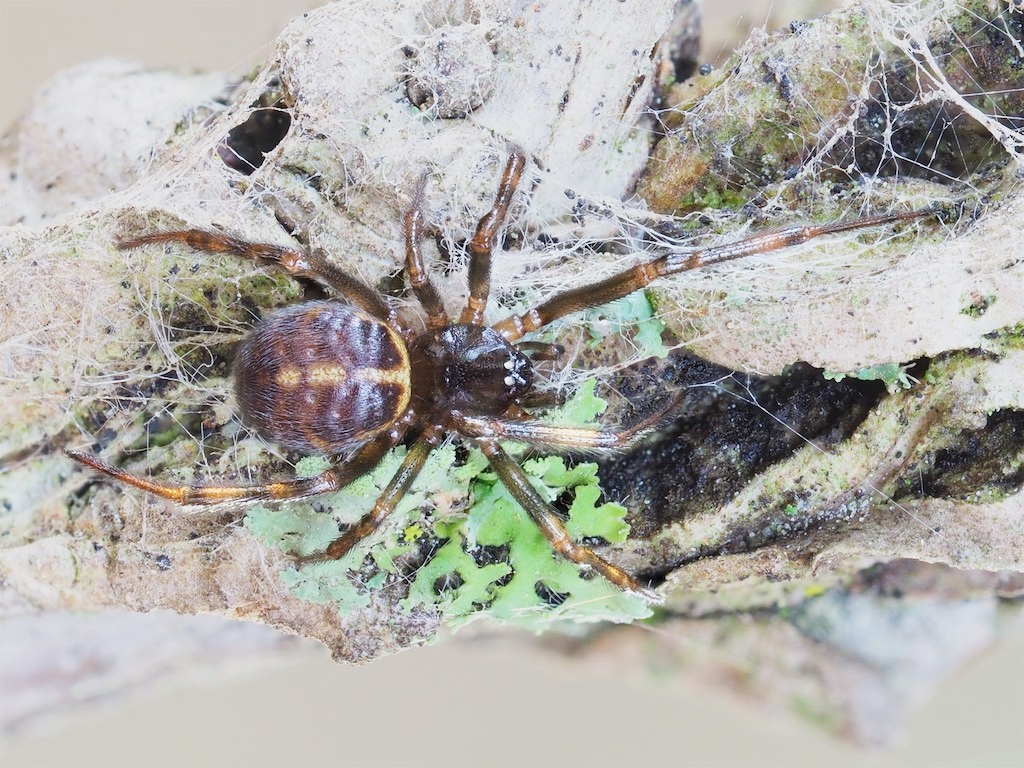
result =
[[[397,432],[397,435],[394,432]],[[185,506],[213,506],[301,499],[338,490],[377,466],[384,454],[400,437],[401,433],[398,430],[380,435],[375,440],[362,445],[344,464],[331,467],[315,477],[296,477],[291,480],[257,485],[173,485],[131,474],[121,467],[115,467],[81,451],[69,450],[65,453],[79,464],[84,464],[90,469],[163,499],[169,499]]]

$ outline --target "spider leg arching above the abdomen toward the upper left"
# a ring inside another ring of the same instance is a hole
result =
[[[180,243],[196,251],[230,253],[255,261],[269,261],[296,278],[309,278],[345,297],[367,313],[394,322],[384,300],[362,281],[342,271],[315,251],[289,248],[273,243],[252,243],[209,229],[180,229],[152,232],[118,243],[122,251],[152,243]]]

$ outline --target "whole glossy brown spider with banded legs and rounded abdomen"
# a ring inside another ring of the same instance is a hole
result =
[[[652,593],[632,575],[569,538],[559,514],[534,488],[501,441],[572,451],[614,450],[626,446],[656,420],[614,430],[557,427],[531,418],[524,407],[541,398],[531,391],[534,368],[527,352],[539,345],[520,340],[559,317],[626,296],[658,278],[924,212],[794,226],[705,250],[667,253],[606,280],[558,293],[522,314],[487,326],[483,310],[490,292],[495,242],[525,165],[525,155],[514,151],[494,205],[469,243],[469,298],[457,323],[446,315],[425,265],[423,185],[417,189],[404,219],[406,271],[426,312],[427,328],[422,333],[402,324],[372,288],[307,249],[250,243],[202,229],[155,232],[119,244],[129,249],[181,243],[198,251],[265,260],[290,274],[315,280],[335,294],[337,299],[298,303],[263,319],[239,348],[234,388],[245,421],[266,439],[308,454],[349,456],[347,461],[336,462],[315,477],[281,482],[169,485],[129,474],[84,453],[69,451],[68,455],[179,504],[213,505],[338,490],[373,469],[387,451],[412,433],[415,438],[409,453],[370,512],[324,552],[304,558],[332,560],[343,557],[381,525],[430,452],[454,432],[480,446],[502,482],[559,554],[593,568],[623,590],[651,598]]]

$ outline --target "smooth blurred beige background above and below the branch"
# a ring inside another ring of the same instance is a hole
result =
[[[270,53],[291,17],[316,4],[0,0],[0,132],[52,74],[99,56],[244,73]],[[790,0],[710,5],[703,60],[712,63],[751,27],[820,12],[820,5]],[[219,620],[186,621],[182,634]],[[0,669],[0,707],[3,678],[15,672]],[[184,678],[155,680],[128,696],[81,691],[89,706],[2,736],[2,763],[1024,765],[1020,622],[915,715],[904,738],[877,752],[796,720],[768,720],[725,692],[666,679],[656,669],[567,660],[531,636],[495,630],[442,638],[362,668],[336,665],[313,644],[274,638],[230,665],[198,660]]]

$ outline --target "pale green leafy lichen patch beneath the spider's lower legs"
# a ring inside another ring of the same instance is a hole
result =
[[[563,421],[586,423],[604,406],[587,382],[560,413]],[[322,512],[303,504],[256,507],[246,525],[287,553],[323,551],[337,538],[339,520],[354,522],[370,509],[404,455],[404,447],[395,449],[372,472],[318,499]],[[373,540],[340,560],[288,568],[282,581],[297,597],[333,603],[343,612],[369,605],[371,590],[400,585],[404,610],[439,610],[453,627],[487,616],[541,631],[563,620],[629,622],[650,614],[640,598],[557,555],[479,451],[469,450],[455,464],[454,446],[436,450]],[[626,541],[626,508],[600,503],[596,464],[567,467],[548,457],[522,466],[547,501],[571,497],[565,524],[575,541]],[[327,467],[326,459],[308,458],[296,471],[312,476]],[[472,504],[463,512],[459,500],[467,498]]]

